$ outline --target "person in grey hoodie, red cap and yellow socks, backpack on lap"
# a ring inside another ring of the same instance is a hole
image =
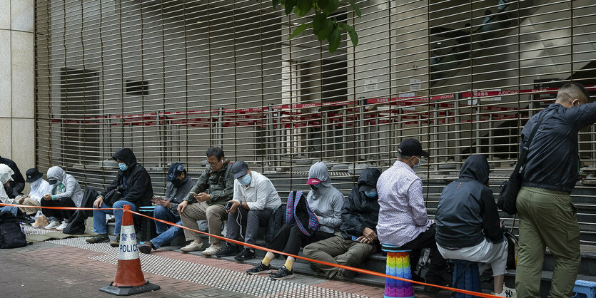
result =
[[[300,247],[325,240],[339,231],[343,195],[331,185],[325,163],[318,162],[310,167],[306,184],[311,188],[306,199],[302,192],[290,192],[286,205],[286,224],[271,240],[268,248],[298,255]],[[270,273],[270,262],[275,256],[273,252],[267,252],[260,263],[246,272],[249,274]],[[269,274],[269,277],[272,279],[294,277],[292,270],[294,260],[294,257],[286,257],[286,264],[277,272]]]

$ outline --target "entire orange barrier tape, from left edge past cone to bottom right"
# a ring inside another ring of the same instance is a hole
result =
[[[159,220],[157,218],[148,216],[148,215],[144,215],[138,212],[134,212],[132,210],[125,210],[123,208],[85,208],[85,207],[42,207],[42,206],[25,206],[25,205],[15,205],[15,204],[4,204],[4,203],[0,203],[0,206],[13,206],[13,207],[26,207],[26,208],[46,208],[46,209],[61,209],[61,210],[123,210],[124,212],[131,212],[132,214],[136,214],[142,217],[147,217],[151,220],[155,220],[157,222],[162,222],[166,225],[173,225],[174,227],[180,227],[181,229],[185,229],[185,230],[189,230],[189,231],[193,231],[193,232],[198,232],[199,234],[203,234],[203,235],[208,235],[209,237],[215,237],[219,240],[223,240],[223,241],[227,241],[227,242],[231,242],[231,243],[235,243],[236,245],[242,245],[242,246],[246,246],[246,247],[252,247],[256,250],[264,250],[266,252],[273,252],[274,254],[278,254],[278,255],[286,255],[289,257],[294,257],[296,259],[300,259],[300,260],[305,260],[308,262],[315,262],[318,264],[323,264],[323,265],[327,265],[330,267],[338,267],[338,268],[343,268],[343,269],[348,269],[351,271],[355,271],[355,272],[360,272],[360,273],[364,273],[364,274],[370,274],[370,275],[375,275],[378,277],[385,277],[385,278],[390,278],[390,279],[397,279],[397,280],[401,280],[403,282],[411,282],[413,284],[421,284],[421,285],[425,285],[425,286],[430,286],[430,287],[438,287],[440,289],[447,289],[449,291],[453,291],[453,292],[460,292],[463,294],[469,294],[469,295],[473,295],[473,296],[477,296],[477,297],[485,297],[485,298],[493,298],[493,297],[498,297],[495,295],[491,295],[491,294],[485,294],[485,293],[480,293],[480,292],[473,292],[473,291],[468,291],[465,289],[455,289],[453,287],[444,287],[444,286],[440,286],[438,284],[428,284],[426,282],[416,282],[415,280],[410,280],[410,279],[405,279],[405,278],[401,278],[401,277],[394,277],[391,275],[387,275],[384,273],[379,273],[379,272],[374,272],[374,271],[370,271],[370,270],[366,270],[366,269],[360,269],[360,268],[355,268],[355,267],[350,267],[350,266],[345,266],[342,264],[333,264],[333,263],[329,263],[329,262],[325,262],[325,261],[319,261],[319,260],[314,260],[314,259],[309,259],[308,257],[300,257],[298,255],[291,255],[288,254],[287,252],[279,252],[277,250],[271,250],[269,248],[266,247],[261,247],[258,245],[251,245],[248,244],[246,242],[241,242],[238,240],[233,240],[233,239],[228,239],[226,237],[222,237],[222,236],[217,236],[217,235],[211,235],[208,232],[201,232],[198,230],[193,230],[189,227],[183,227],[182,225],[177,225],[173,222],[168,222],[166,220]]]

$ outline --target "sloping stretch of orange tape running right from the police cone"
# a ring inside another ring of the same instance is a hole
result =
[[[193,232],[198,232],[198,233],[203,234],[203,235],[208,235],[209,237],[215,237],[215,238],[217,238],[219,240],[224,240],[224,241],[227,241],[227,242],[235,243],[236,245],[242,245],[242,246],[246,246],[246,247],[251,247],[251,248],[254,248],[254,249],[257,249],[257,250],[265,250],[267,252],[273,252],[274,254],[286,255],[286,256],[289,256],[289,257],[294,257],[296,259],[301,259],[301,260],[305,260],[305,261],[308,261],[308,262],[315,262],[315,263],[324,264],[324,265],[327,265],[327,266],[330,266],[330,267],[338,267],[338,268],[348,269],[348,270],[351,270],[351,271],[360,272],[360,273],[364,273],[364,274],[375,275],[375,276],[378,276],[378,277],[385,277],[385,278],[390,278],[390,279],[397,279],[397,280],[401,280],[403,282],[411,282],[413,284],[422,284],[422,285],[430,286],[430,287],[438,287],[440,289],[447,289],[447,290],[450,290],[450,291],[453,291],[453,292],[460,292],[460,293],[463,293],[463,294],[474,295],[474,296],[477,296],[477,297],[485,297],[485,298],[498,297],[498,296],[491,295],[491,294],[485,294],[485,293],[480,293],[480,292],[473,292],[473,291],[468,291],[468,290],[465,290],[465,289],[455,289],[453,287],[444,287],[444,286],[440,286],[438,284],[428,284],[428,283],[425,283],[425,282],[416,282],[415,280],[405,279],[405,278],[401,278],[401,277],[394,277],[394,276],[391,276],[391,275],[387,275],[387,274],[379,273],[379,272],[374,272],[374,271],[370,271],[370,270],[366,270],[366,269],[360,269],[360,268],[345,266],[345,265],[342,265],[342,264],[333,264],[333,263],[329,263],[329,262],[325,262],[325,261],[319,261],[319,260],[309,259],[308,257],[300,257],[298,255],[291,255],[291,254],[288,254],[287,252],[279,252],[277,250],[271,250],[271,249],[266,248],[266,247],[261,247],[261,246],[258,246],[258,245],[251,245],[251,244],[248,244],[246,242],[241,242],[241,241],[238,241],[238,240],[228,239],[228,238],[222,237],[222,236],[211,235],[208,232],[201,232],[201,231],[198,231],[198,230],[193,230],[193,229],[191,229],[189,227],[183,227],[182,225],[177,225],[175,223],[168,222],[166,220],[159,220],[157,218],[153,218],[153,217],[148,216],[148,215],[143,215],[141,213],[134,212],[132,210],[124,210],[124,211],[131,212],[133,214],[136,214],[136,215],[139,215],[139,216],[142,216],[142,217],[147,217],[147,218],[149,218],[151,220],[155,220],[157,222],[163,222],[166,225],[173,225],[174,227],[180,227],[180,228],[185,229],[185,230],[189,230],[189,231],[193,231]]]

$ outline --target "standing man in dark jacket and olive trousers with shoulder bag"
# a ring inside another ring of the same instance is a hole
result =
[[[540,296],[545,249],[555,256],[549,297],[570,297],[580,266],[580,226],[570,192],[575,187],[580,158],[577,133],[596,122],[596,103],[579,83],[567,83],[557,100],[524,125],[521,146],[542,119],[528,148],[517,194],[520,253],[515,288],[520,297]]]

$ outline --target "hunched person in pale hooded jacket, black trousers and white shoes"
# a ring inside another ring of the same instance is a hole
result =
[[[83,200],[83,190],[73,175],[66,174],[62,168],[54,166],[46,173],[50,190],[43,195],[41,206],[44,207],[79,207]],[[78,205],[77,205],[78,204]],[[58,210],[43,208],[41,211],[50,220],[45,229],[64,230],[74,210]],[[62,222],[62,223],[60,223]]]

